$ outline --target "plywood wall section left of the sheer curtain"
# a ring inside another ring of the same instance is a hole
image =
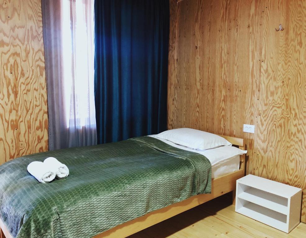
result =
[[[0,164],[46,150],[40,0],[0,0]]]

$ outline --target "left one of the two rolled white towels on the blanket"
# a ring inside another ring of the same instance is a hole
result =
[[[49,183],[55,179],[56,175],[47,165],[40,161],[31,162],[28,165],[27,170],[40,183]]]

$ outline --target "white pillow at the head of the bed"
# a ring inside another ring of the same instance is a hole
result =
[[[190,128],[166,130],[155,135],[155,137],[169,140],[194,150],[207,150],[222,145],[231,145],[230,142],[219,135]]]

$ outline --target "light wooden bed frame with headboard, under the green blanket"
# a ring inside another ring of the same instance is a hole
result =
[[[235,138],[231,136],[223,136],[233,145],[238,146],[244,150],[244,141],[241,138]],[[212,193],[199,194],[192,196],[184,201],[169,205],[165,208],[155,210],[139,218],[135,218],[131,221],[118,225],[108,231],[102,232],[94,238],[124,238],[135,234],[138,231],[144,230],[150,226],[153,226],[159,222],[162,222],[168,218],[171,218],[177,214],[185,212],[193,207],[196,207],[204,202],[212,200],[225,193],[233,191],[233,204],[235,204],[236,195],[236,180],[244,176],[245,171],[245,155],[240,156],[240,169],[233,173],[225,174],[218,178],[212,179]],[[2,220],[0,219],[0,237],[1,238],[13,238]]]

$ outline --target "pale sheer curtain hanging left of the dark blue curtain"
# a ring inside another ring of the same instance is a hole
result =
[[[49,149],[96,144],[94,0],[42,1]]]

